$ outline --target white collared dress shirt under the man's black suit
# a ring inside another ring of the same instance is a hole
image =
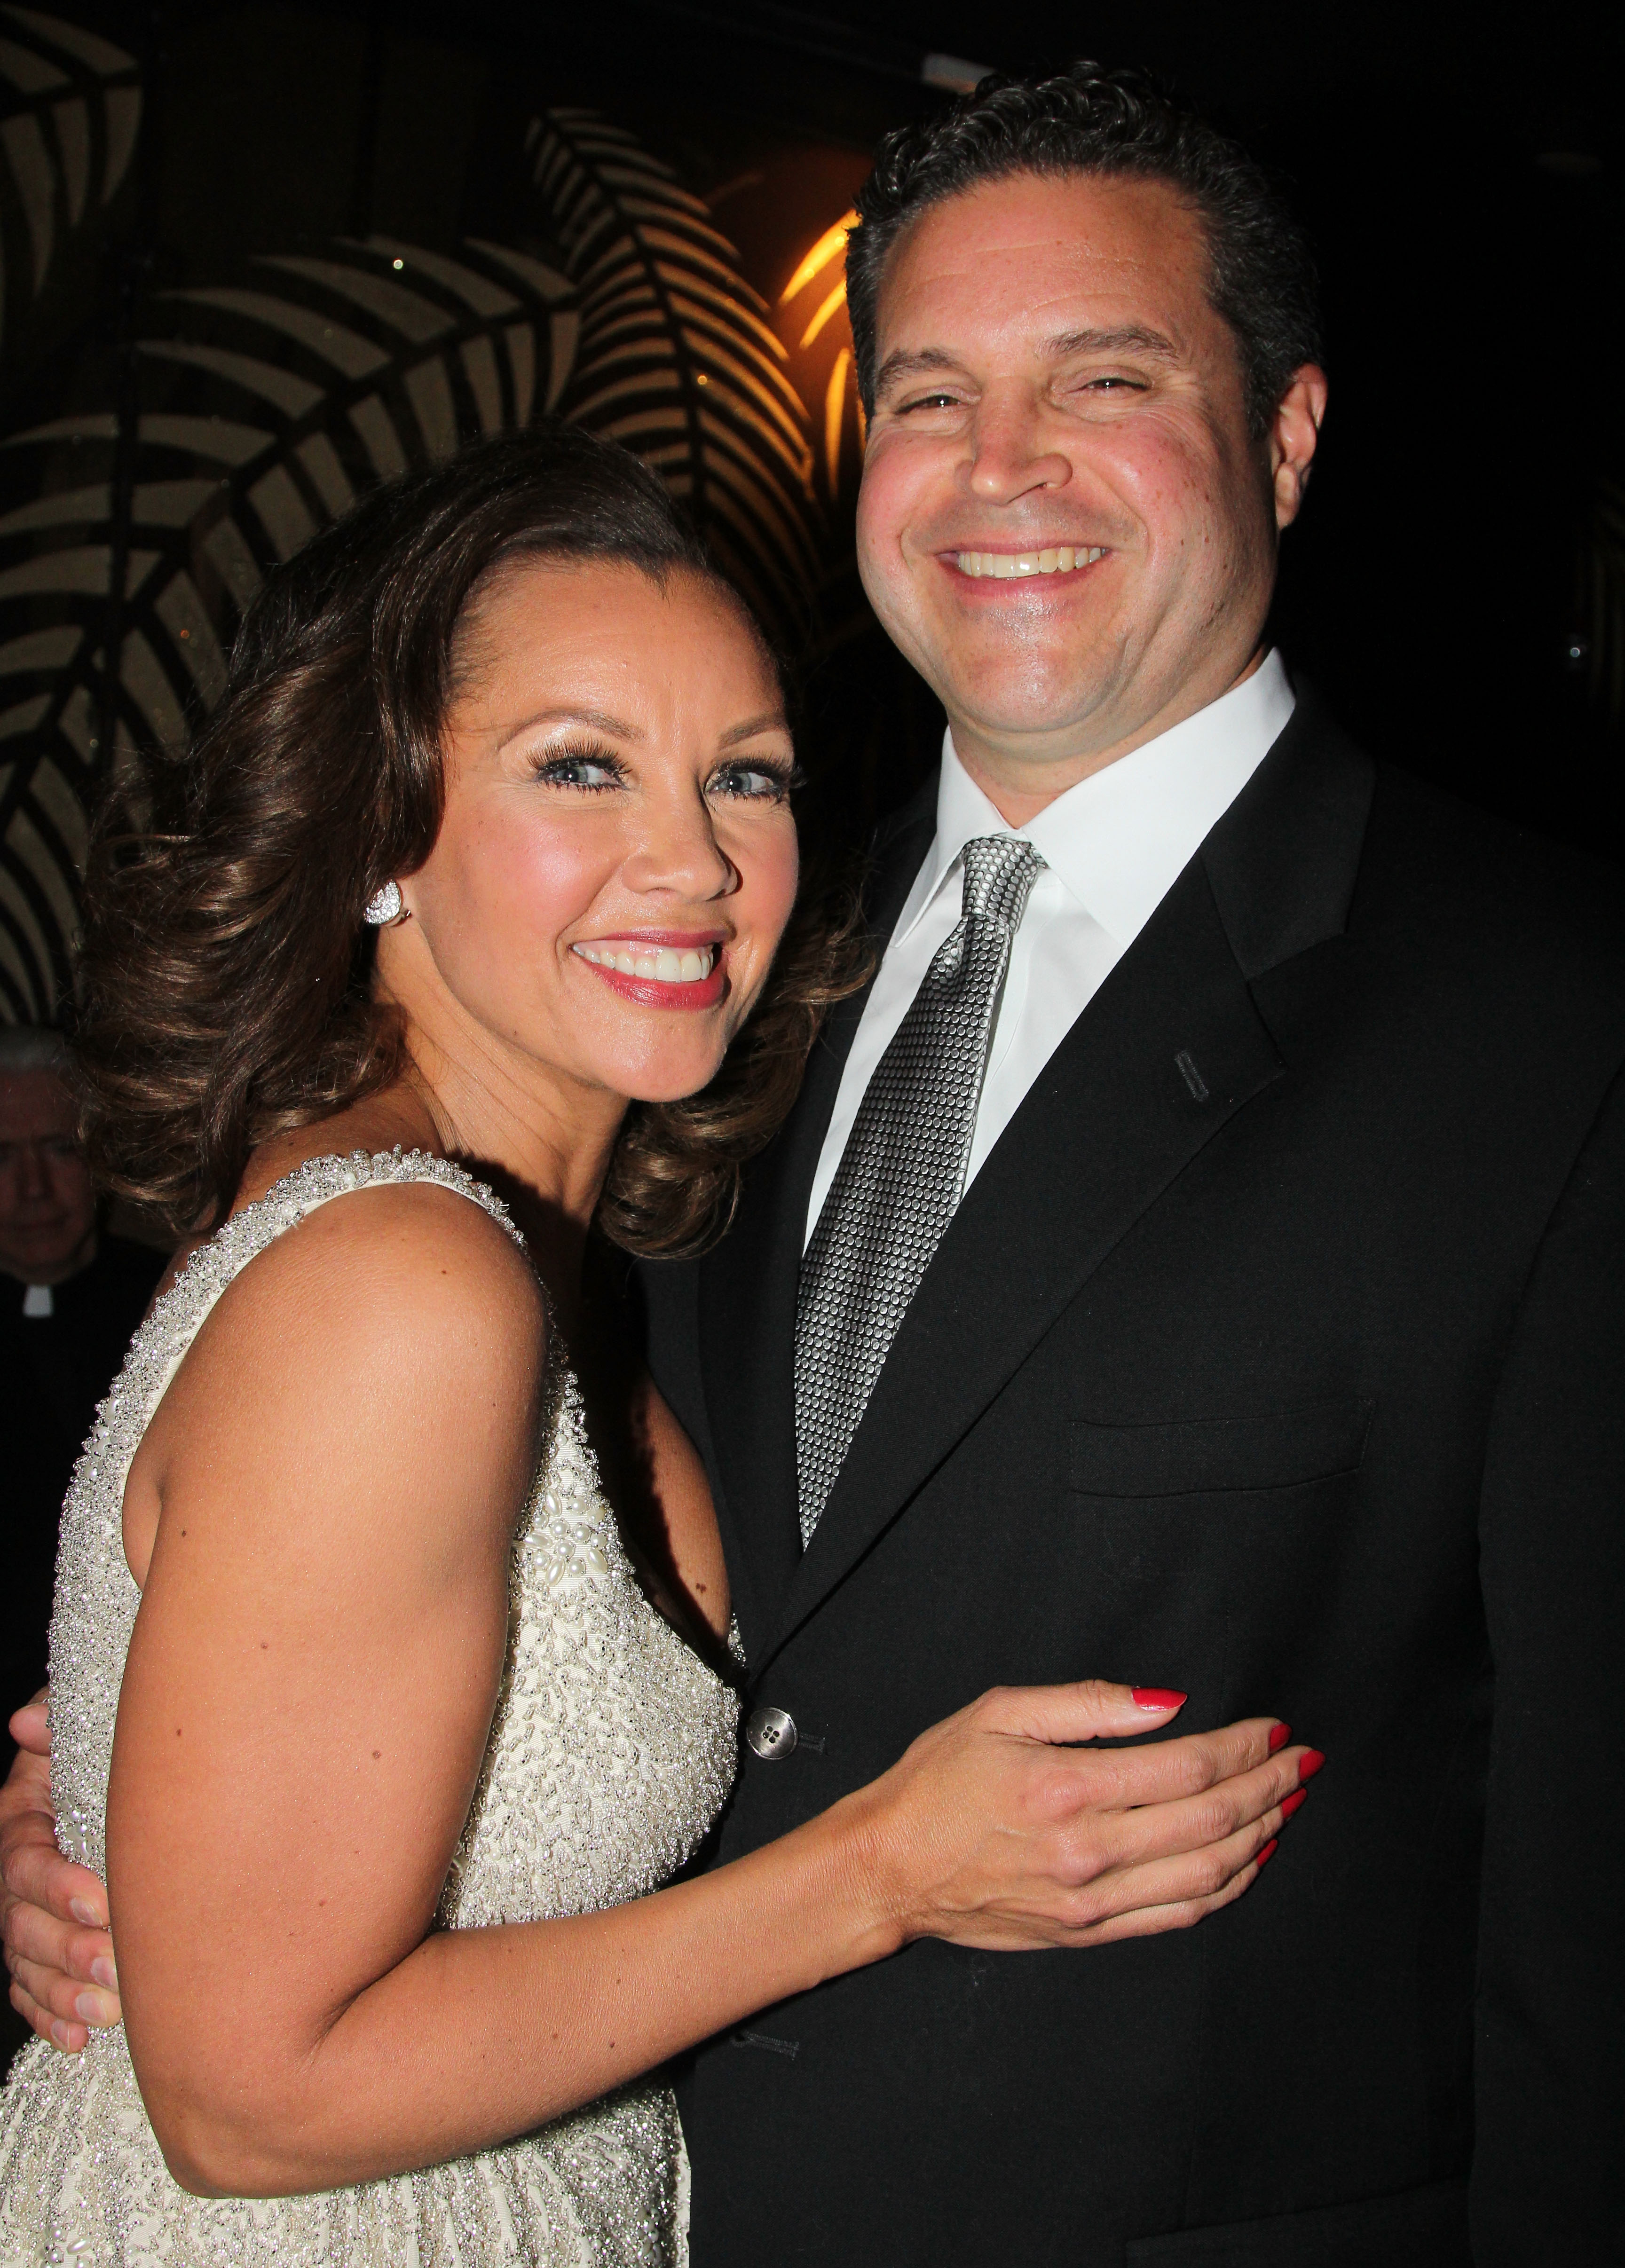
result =
[[[942,742],[937,837],[892,930],[853,1034],[824,1136],[806,1236],[847,1148],[865,1089],[908,1014],[937,946],[960,919],[960,853],[976,835],[1021,835],[1044,860],[1010,948],[965,1186],[1028,1086],[1167,898],[1207,830],[1230,810],[1296,696],[1278,653],[1205,710],[1078,780],[1010,828]]]

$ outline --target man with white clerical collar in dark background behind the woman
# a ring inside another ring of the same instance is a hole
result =
[[[0,1032],[0,1692],[45,1678],[57,1515],[163,1259],[107,1236],[57,1032]]]

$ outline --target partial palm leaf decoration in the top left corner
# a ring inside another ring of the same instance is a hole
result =
[[[141,125],[134,57],[39,9],[0,7],[0,349],[73,234],[111,204]]]

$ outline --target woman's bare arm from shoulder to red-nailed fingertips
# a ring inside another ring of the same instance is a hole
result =
[[[994,1694],[738,1864],[431,1935],[502,1674],[540,1329],[529,1270],[463,1200],[370,1191],[231,1286],[132,1472],[132,1540],[161,1515],[109,1887],[136,2073],[186,2186],[477,2150],[917,1935],[1182,1926],[1251,1882],[1296,1783],[1266,1721],[1076,1751],[1051,1744],[1171,1710]]]

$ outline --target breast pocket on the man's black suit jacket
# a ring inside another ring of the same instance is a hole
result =
[[[1305,1488],[1359,1472],[1371,1402],[1328,1399],[1264,1417],[1164,1424],[1071,1424],[1071,1492],[1080,1497],[1223,1497]]]

